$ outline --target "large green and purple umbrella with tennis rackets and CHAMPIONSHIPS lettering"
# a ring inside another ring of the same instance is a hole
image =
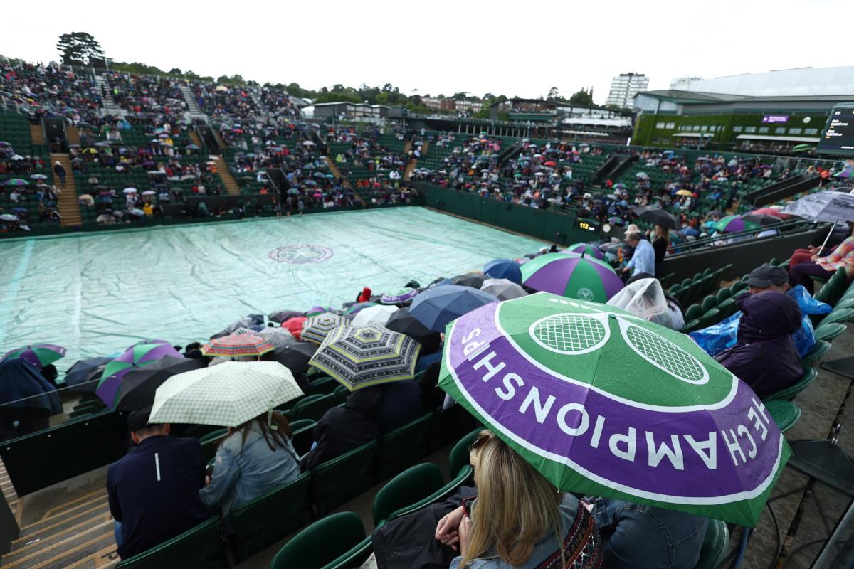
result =
[[[487,305],[445,348],[439,386],[564,491],[756,525],[791,455],[750,387],[614,306]]]

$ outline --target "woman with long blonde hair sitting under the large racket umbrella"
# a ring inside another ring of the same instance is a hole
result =
[[[459,550],[450,569],[594,569],[599,532],[586,508],[496,437],[471,447],[477,499],[447,514],[436,539]]]

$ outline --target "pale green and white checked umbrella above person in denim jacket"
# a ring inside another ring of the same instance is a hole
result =
[[[225,362],[166,380],[149,422],[237,427],[302,394],[281,363]]]

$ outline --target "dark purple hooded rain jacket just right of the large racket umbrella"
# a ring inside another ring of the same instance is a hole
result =
[[[793,385],[804,370],[792,334],[800,328],[798,303],[787,294],[749,294],[738,300],[744,313],[738,343],[715,357],[760,398]]]

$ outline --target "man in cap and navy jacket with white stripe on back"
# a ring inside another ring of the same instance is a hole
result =
[[[202,445],[149,425],[151,409],[132,412],[127,427],[136,449],[110,465],[107,493],[119,556],[143,553],[210,518],[199,497],[205,484]]]

